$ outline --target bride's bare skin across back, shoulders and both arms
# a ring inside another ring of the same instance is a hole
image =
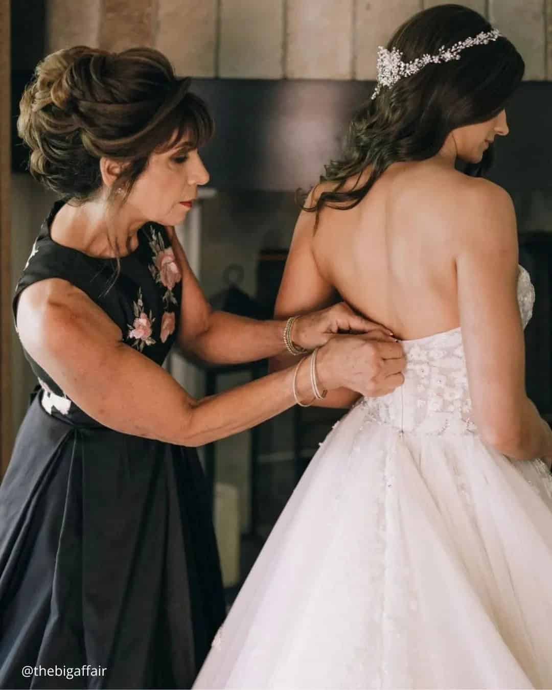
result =
[[[517,229],[502,188],[444,157],[393,164],[358,206],[324,206],[314,226],[314,213],[303,211],[277,316],[327,306],[339,293],[401,340],[462,328],[482,436],[511,457],[550,455],[550,430],[525,392]],[[349,406],[356,397],[334,391],[324,404]]]

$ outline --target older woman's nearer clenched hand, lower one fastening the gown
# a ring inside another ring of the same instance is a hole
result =
[[[366,397],[378,397],[404,383],[406,358],[393,340],[368,335],[337,335],[317,356],[317,378],[322,388],[349,388]]]

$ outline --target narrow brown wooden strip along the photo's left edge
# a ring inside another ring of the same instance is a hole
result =
[[[0,478],[13,444],[11,338],[12,281],[10,270],[10,0],[0,0]]]

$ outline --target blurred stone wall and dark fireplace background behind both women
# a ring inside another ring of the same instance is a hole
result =
[[[37,62],[86,44],[152,46],[212,108],[202,152],[211,180],[178,228],[213,306],[270,317],[298,214],[297,188],[339,154],[353,110],[370,97],[377,46],[433,0],[0,0],[1,411],[3,468],[34,380],[12,326],[11,293],[53,197],[26,172],[18,102]],[[489,177],[513,196],[522,263],[537,289],[527,338],[529,395],[552,413],[552,0],[470,0],[515,43],[526,81],[509,109]],[[8,37],[8,32],[11,36]],[[10,106],[11,103],[11,106]],[[11,156],[11,159],[10,159]],[[435,190],[438,194],[439,190]],[[482,228],[484,230],[484,228]],[[266,363],[197,368],[179,353],[166,368],[193,395],[266,372]],[[231,600],[302,471],[342,411],[290,410],[202,450]]]

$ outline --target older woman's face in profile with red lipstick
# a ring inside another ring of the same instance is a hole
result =
[[[209,173],[197,149],[184,140],[164,153],[152,153],[126,200],[132,216],[162,225],[184,221]]]

